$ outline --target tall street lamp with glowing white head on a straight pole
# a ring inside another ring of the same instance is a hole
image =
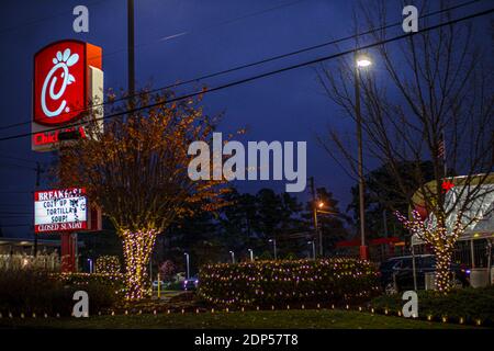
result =
[[[358,144],[358,173],[359,173],[359,210],[360,210],[360,258],[368,259],[366,246],[366,213],[363,205],[363,157],[362,157],[362,113],[360,111],[360,69],[372,65],[369,56],[364,54],[355,55],[355,114],[357,120],[357,144]]]

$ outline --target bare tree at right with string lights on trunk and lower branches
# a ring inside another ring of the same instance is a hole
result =
[[[417,5],[423,13],[429,10],[427,3]],[[381,29],[386,24],[386,5],[373,1],[372,7],[358,7],[364,25],[380,30],[361,37],[357,47],[389,37],[389,30]],[[439,7],[446,9],[447,2]],[[446,22],[451,16],[445,11],[434,21]],[[428,21],[433,19],[423,20],[420,26],[426,27]],[[449,268],[456,241],[487,215],[490,204],[483,202],[493,192],[493,69],[492,60],[484,59],[491,56],[485,55],[489,48],[478,45],[476,36],[489,36],[490,31],[471,22],[419,31],[398,44],[379,44],[368,52],[375,70],[353,75],[358,68],[352,59],[318,69],[327,95],[353,120],[353,86],[359,79],[366,158],[385,166],[396,180],[395,191],[409,200],[412,216],[398,217],[434,249],[436,286],[441,292],[451,287]],[[355,173],[355,148],[335,129],[319,140],[333,157],[343,155]],[[433,163],[431,179],[424,161]],[[406,174],[401,171],[404,163],[412,165]],[[419,184],[418,190],[411,189],[411,180]]]

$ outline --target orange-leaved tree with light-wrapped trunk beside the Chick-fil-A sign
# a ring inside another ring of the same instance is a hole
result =
[[[131,301],[150,292],[145,282],[157,235],[193,208],[217,210],[228,191],[224,180],[189,178],[189,146],[210,143],[217,121],[203,114],[200,100],[167,103],[172,98],[142,92],[133,106],[155,105],[139,115],[122,112],[105,121],[104,131],[93,118],[86,131],[92,138],[74,140],[60,165],[61,183],[85,186],[122,238]]]

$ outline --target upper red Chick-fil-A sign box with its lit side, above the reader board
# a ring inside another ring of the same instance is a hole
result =
[[[59,131],[54,128],[77,122],[96,97],[102,100],[101,54],[101,47],[69,39],[34,56],[34,150],[56,147]]]

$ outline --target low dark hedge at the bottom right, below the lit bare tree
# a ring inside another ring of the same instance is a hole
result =
[[[482,288],[459,288],[448,295],[436,291],[419,291],[418,316],[448,320],[463,319],[465,322],[494,324],[494,285]],[[370,305],[379,310],[402,310],[402,294],[383,295],[371,301]]]

